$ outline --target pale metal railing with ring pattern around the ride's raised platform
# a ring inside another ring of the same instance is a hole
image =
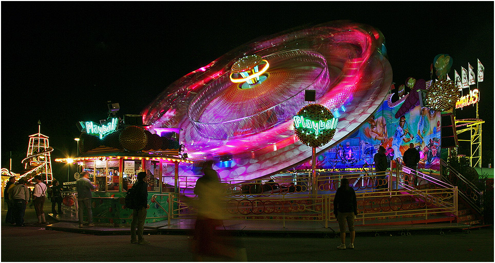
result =
[[[335,220],[333,198],[341,177],[356,188],[358,216],[356,220],[373,218],[422,217],[436,214],[458,214],[458,189],[428,174],[418,171],[389,172],[387,179],[376,179],[369,171],[356,173],[325,173],[317,179],[318,193],[311,194],[309,177],[286,178],[279,182],[251,181],[242,184],[224,183],[226,217],[243,220],[320,221],[328,227]],[[417,178],[416,189],[413,183]],[[290,181],[290,183],[289,183]],[[396,184],[393,184],[396,182]],[[388,184],[388,189],[377,186]],[[406,193],[405,193],[406,192]],[[160,196],[160,198],[159,198]],[[174,218],[195,218],[192,205],[196,195],[192,188],[180,193],[153,195],[153,202],[165,211],[170,223]],[[162,204],[167,202],[167,205]]]

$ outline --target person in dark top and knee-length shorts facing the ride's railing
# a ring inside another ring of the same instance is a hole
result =
[[[356,231],[354,231],[354,218],[357,215],[357,199],[354,189],[349,187],[347,178],[340,179],[340,186],[337,188],[335,198],[333,199],[333,214],[337,217],[338,226],[340,228],[340,246],[337,249],[346,249],[346,221],[351,235],[351,243],[347,246],[350,249],[354,248],[354,239]]]

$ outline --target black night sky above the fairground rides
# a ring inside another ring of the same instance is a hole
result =
[[[493,162],[493,2],[2,2],[2,167],[12,152],[13,171],[22,169],[38,120],[52,160],[74,156],[76,123],[105,119],[108,100],[120,116],[140,114],[246,42],[340,19],[382,31],[396,86],[429,80],[437,54],[453,58],[452,79],[480,59],[483,166]],[[456,116],[475,118],[475,106]],[[63,180],[66,168],[52,165]]]

